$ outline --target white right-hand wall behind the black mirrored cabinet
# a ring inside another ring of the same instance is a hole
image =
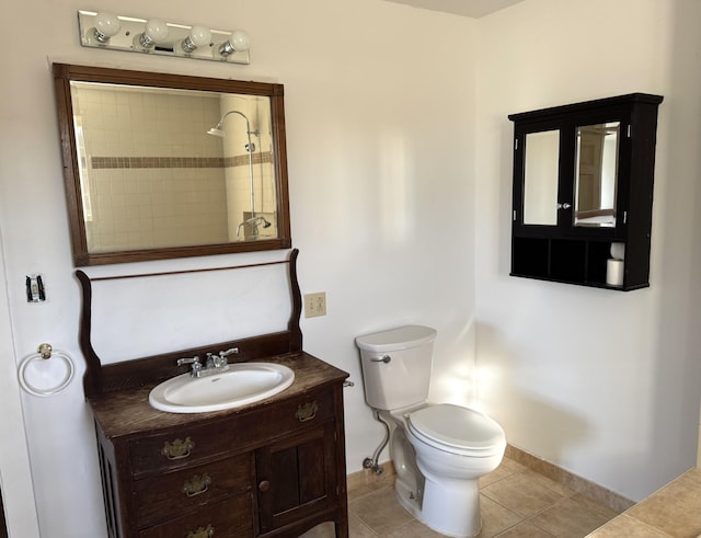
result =
[[[479,26],[480,399],[513,444],[632,500],[696,461],[700,18],[689,0],[528,0]],[[507,114],[636,91],[665,95],[651,288],[509,277]]]

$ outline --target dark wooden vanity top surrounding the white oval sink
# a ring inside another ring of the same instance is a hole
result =
[[[289,353],[273,357],[261,357],[251,362],[277,363],[295,371],[295,382],[283,392],[255,403],[235,409],[207,413],[166,413],[149,404],[149,392],[158,385],[138,389],[127,389],[103,394],[90,400],[95,420],[108,438],[142,433],[145,430],[159,430],[177,425],[192,425],[210,421],[217,416],[245,413],[252,409],[271,405],[287,398],[303,396],[320,386],[343,382],[348,374],[331,366],[304,352]]]

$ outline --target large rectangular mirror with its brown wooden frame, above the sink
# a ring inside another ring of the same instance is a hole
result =
[[[283,87],[55,65],[76,265],[291,245]]]

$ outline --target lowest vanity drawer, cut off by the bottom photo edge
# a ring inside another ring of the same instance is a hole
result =
[[[246,493],[141,530],[139,538],[251,538],[252,513],[253,496]]]

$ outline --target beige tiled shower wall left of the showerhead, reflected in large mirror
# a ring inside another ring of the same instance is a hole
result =
[[[228,241],[222,144],[206,135],[218,98],[88,84],[77,98],[90,250]]]

